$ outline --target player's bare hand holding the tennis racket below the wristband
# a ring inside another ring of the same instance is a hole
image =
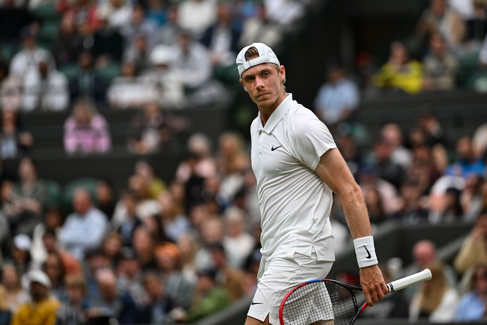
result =
[[[360,285],[369,307],[374,306],[374,303],[384,299],[384,295],[389,293],[382,272],[377,265],[360,268]]]

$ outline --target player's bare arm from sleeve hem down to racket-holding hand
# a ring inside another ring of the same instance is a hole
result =
[[[329,149],[321,155],[315,172],[332,191],[341,197],[347,224],[354,239],[371,237],[369,214],[362,190],[337,148]],[[372,249],[369,248],[369,250]],[[363,255],[370,258],[366,256],[367,253],[369,251],[366,251],[364,247]],[[375,250],[373,253],[375,254]],[[360,258],[357,257],[357,259]],[[382,272],[377,264],[360,268],[360,283],[369,306],[374,306],[374,302],[384,299],[384,293],[388,293]]]

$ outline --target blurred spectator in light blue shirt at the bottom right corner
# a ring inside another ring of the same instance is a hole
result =
[[[487,317],[487,265],[479,265],[473,272],[470,292],[460,300],[457,321],[480,321]]]

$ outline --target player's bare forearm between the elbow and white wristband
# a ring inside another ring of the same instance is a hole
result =
[[[348,228],[354,239],[372,236],[369,213],[360,187],[355,185],[350,191],[341,193],[340,196]]]

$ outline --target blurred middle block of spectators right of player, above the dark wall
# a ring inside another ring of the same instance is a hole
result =
[[[369,151],[353,133],[335,136],[362,188],[371,223],[473,223],[487,209],[487,124],[451,145],[431,114],[405,131],[395,123],[384,125]],[[339,197],[332,217],[345,224]]]

